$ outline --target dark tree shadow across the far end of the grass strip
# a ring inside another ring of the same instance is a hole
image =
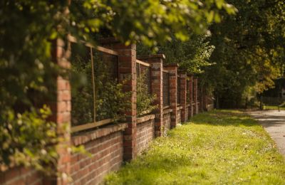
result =
[[[253,127],[259,125],[257,120],[239,110],[212,110],[195,115],[191,121],[194,124],[213,126]]]

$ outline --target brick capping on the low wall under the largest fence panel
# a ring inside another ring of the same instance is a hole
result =
[[[80,144],[85,144],[86,142],[90,142],[94,139],[98,139],[100,137],[104,137],[108,134],[112,134],[113,132],[119,132],[125,130],[128,127],[128,123],[120,123],[116,125],[109,125],[107,127],[95,129],[90,132],[84,132],[80,135],[76,135],[71,137],[71,141],[75,146]]]

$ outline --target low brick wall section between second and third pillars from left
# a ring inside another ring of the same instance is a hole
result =
[[[155,115],[147,115],[137,118],[137,138],[136,147],[140,154],[148,147],[152,139],[155,138]]]

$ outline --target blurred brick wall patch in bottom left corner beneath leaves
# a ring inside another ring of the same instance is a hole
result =
[[[0,174],[0,184],[3,185],[40,185],[43,176],[34,169],[14,167]]]

